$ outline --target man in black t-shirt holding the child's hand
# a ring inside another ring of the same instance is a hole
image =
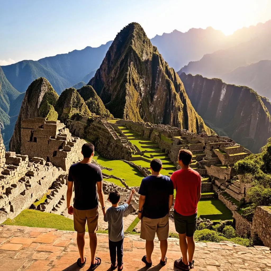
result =
[[[83,160],[73,164],[69,169],[67,208],[70,215],[73,214],[74,229],[77,231],[77,246],[80,258],[77,260],[79,267],[86,264],[84,255],[86,222],[88,224],[89,244],[91,250],[90,270],[101,264],[101,259],[95,257],[97,248],[98,230],[98,194],[102,211],[105,215],[104,192],[102,190],[102,171],[100,167],[91,163],[94,156],[94,146],[85,143],[82,146]],[[74,206],[70,204],[74,185]],[[96,187],[97,185],[97,187]],[[98,193],[97,193],[98,192]]]

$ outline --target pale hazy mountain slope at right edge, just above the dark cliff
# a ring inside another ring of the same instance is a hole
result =
[[[248,86],[271,101],[271,60],[238,67],[221,76],[226,83]]]

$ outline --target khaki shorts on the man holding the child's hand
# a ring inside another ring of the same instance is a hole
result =
[[[89,210],[78,210],[73,208],[73,224],[74,229],[78,233],[86,231],[86,222],[88,225],[88,232],[93,234],[98,230],[98,206]]]

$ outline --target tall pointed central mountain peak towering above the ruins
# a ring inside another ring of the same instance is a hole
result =
[[[88,85],[114,117],[210,132],[176,72],[137,23],[117,34]]]

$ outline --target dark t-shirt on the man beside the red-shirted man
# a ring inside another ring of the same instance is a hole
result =
[[[169,211],[169,195],[173,195],[173,183],[167,176],[148,176],[141,182],[138,193],[146,196],[142,215],[151,219],[162,218]]]

